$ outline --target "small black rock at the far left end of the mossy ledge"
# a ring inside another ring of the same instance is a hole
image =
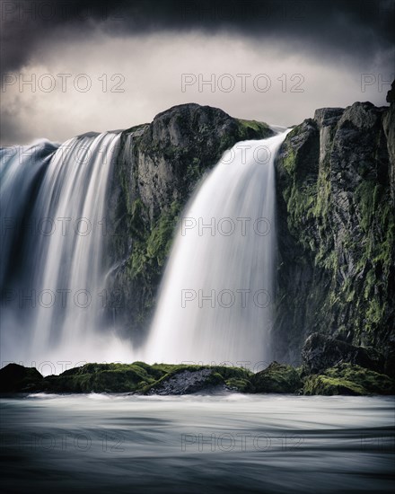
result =
[[[42,389],[43,376],[35,367],[8,364],[0,369],[0,393],[31,393]]]

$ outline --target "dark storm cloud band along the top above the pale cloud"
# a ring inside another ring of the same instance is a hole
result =
[[[98,29],[111,36],[228,31],[358,63],[391,49],[394,13],[393,0],[2,0],[1,69],[17,70],[40,48]]]

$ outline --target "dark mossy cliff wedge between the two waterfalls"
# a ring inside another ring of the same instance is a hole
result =
[[[269,137],[266,124],[184,104],[122,133],[109,207],[109,315],[145,336],[180,211],[226,149]]]

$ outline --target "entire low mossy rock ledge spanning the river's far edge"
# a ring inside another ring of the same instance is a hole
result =
[[[273,362],[253,374],[240,367],[154,364],[85,364],[43,377],[35,368],[8,364],[0,369],[0,393],[190,393],[394,394],[388,375],[340,364],[320,375],[305,375]]]

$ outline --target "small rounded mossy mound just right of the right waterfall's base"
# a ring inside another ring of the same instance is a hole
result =
[[[255,393],[297,393],[303,386],[296,369],[273,362],[251,377]]]

